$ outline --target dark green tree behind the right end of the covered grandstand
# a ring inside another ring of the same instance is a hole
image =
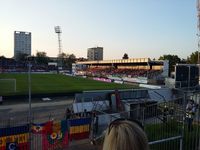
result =
[[[181,62],[181,59],[177,55],[163,55],[160,56],[159,60],[169,60],[169,72],[174,71],[175,65]]]

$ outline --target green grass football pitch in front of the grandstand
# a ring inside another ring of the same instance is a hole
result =
[[[28,74],[0,74],[0,95],[2,96],[27,95],[28,87]],[[32,94],[67,94],[82,92],[84,90],[125,88],[135,88],[135,86],[116,83],[105,83],[87,78],[84,79],[80,77],[71,77],[59,74],[31,74]]]

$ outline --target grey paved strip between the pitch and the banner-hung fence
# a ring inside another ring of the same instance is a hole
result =
[[[65,110],[72,104],[73,98],[57,99],[51,101],[34,100],[31,103],[31,113],[34,119],[60,119],[65,117]],[[29,104],[24,101],[16,103],[15,101],[4,102],[0,105],[0,119],[20,119],[27,118],[29,114]]]

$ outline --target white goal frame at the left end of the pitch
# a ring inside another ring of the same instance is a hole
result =
[[[0,79],[1,93],[16,92],[16,79]]]

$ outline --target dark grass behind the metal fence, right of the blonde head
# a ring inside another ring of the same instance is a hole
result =
[[[168,122],[167,124],[151,124],[145,127],[149,141],[157,141],[170,137],[176,137],[182,135],[182,123],[175,120]],[[199,145],[200,126],[193,124],[193,131],[187,130],[187,124],[183,130],[183,147],[185,150],[195,150]],[[180,139],[161,142],[159,144],[150,145],[151,150],[179,150]]]

